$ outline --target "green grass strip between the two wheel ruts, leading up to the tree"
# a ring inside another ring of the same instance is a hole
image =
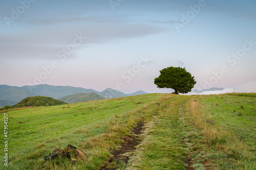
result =
[[[173,95],[162,99],[163,107],[148,125],[130,169],[185,169],[182,160],[188,155],[188,145],[184,138],[190,129],[183,117],[182,104],[189,98]]]

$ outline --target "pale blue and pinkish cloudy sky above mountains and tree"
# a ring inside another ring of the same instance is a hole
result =
[[[256,1],[0,1],[0,84],[124,93],[185,67],[194,89],[256,89]]]

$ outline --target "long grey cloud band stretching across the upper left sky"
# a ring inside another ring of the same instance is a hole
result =
[[[76,28],[76,29],[73,29]],[[114,39],[139,38],[164,32],[164,28],[137,23],[76,23],[38,28],[16,34],[0,34],[0,58],[51,59],[63,47],[73,43],[75,34],[87,37],[83,44],[105,43]],[[77,46],[76,50],[84,47]],[[75,57],[73,55],[72,57]]]

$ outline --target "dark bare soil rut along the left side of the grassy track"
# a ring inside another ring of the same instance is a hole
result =
[[[140,122],[137,127],[132,129],[133,136],[123,137],[124,143],[121,144],[119,149],[111,150],[113,156],[100,169],[114,170],[117,169],[119,164],[128,164],[130,158],[123,156],[123,154],[134,151],[136,149],[135,147],[141,142],[141,138],[138,135],[142,134],[144,124],[145,122]]]

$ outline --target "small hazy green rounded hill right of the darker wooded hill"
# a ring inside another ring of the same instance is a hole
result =
[[[64,101],[66,103],[79,103],[79,102],[88,102],[88,101],[97,101],[104,99],[99,94],[94,92],[91,93],[76,93],[72,95],[64,96],[63,98],[59,98],[59,100]]]

